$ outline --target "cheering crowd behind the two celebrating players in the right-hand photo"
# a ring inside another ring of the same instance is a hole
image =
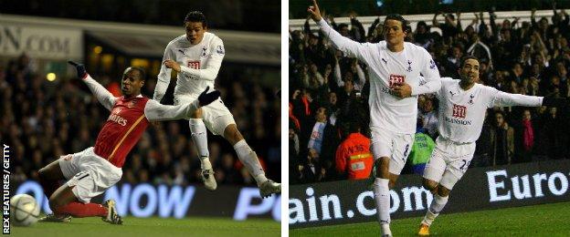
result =
[[[479,58],[481,84],[510,93],[568,98],[570,17],[554,9],[551,18],[537,19],[534,12],[531,22],[519,18],[498,22],[493,12],[479,13],[468,26],[461,24],[459,12],[438,13],[430,23],[408,26],[406,41],[428,50],[441,77],[459,78],[459,59],[470,55]],[[383,40],[379,19],[367,29],[354,15],[350,25],[335,24],[332,15],[325,19],[356,42]],[[311,29],[309,19],[302,29],[290,29],[289,46],[290,183],[360,179],[348,170],[369,173],[372,156],[363,155],[369,150],[348,158],[339,151],[354,141],[353,135],[363,135],[369,142],[368,68],[336,50],[318,28]],[[416,138],[428,136],[417,142],[437,138],[437,111],[433,95],[418,98]],[[569,114],[569,108],[489,109],[471,167],[570,159]],[[414,161],[425,159],[408,159],[403,173],[413,172]]]

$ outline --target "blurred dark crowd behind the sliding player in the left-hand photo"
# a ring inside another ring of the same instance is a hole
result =
[[[59,156],[93,146],[109,116],[78,78],[50,82],[38,75],[30,62],[33,60],[24,55],[0,65],[0,140],[10,146],[11,179],[16,182],[37,180],[37,170]],[[280,99],[275,97],[276,88],[253,83],[252,77],[259,77],[255,73],[240,78],[227,74],[222,67],[216,89],[222,92],[237,128],[257,151],[268,177],[280,180]],[[91,76],[110,91],[120,91],[119,78]],[[152,98],[153,85],[155,77],[149,75],[142,95]],[[209,134],[208,148],[219,184],[255,184],[226,139]],[[188,121],[151,125],[127,156],[122,181],[197,183],[197,157]]]

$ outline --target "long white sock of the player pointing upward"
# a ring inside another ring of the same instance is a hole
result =
[[[392,235],[390,231],[390,189],[387,179],[376,178],[374,183],[374,195],[378,222],[382,228],[382,234]]]

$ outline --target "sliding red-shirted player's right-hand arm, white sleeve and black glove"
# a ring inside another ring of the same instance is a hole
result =
[[[210,93],[206,93],[209,87],[200,94],[198,99],[189,104],[181,104],[177,106],[167,106],[161,105],[156,100],[150,99],[146,102],[144,107],[144,115],[149,121],[164,121],[164,120],[176,120],[181,118],[190,118],[190,116],[195,112],[196,109],[206,106],[217,98],[219,98],[220,93],[214,90]]]

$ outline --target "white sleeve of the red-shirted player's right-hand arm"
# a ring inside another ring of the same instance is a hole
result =
[[[163,120],[176,120],[190,118],[196,109],[199,108],[198,100],[192,103],[181,104],[177,106],[162,105],[156,100],[149,99],[144,106],[144,116],[149,121],[163,121]]]

